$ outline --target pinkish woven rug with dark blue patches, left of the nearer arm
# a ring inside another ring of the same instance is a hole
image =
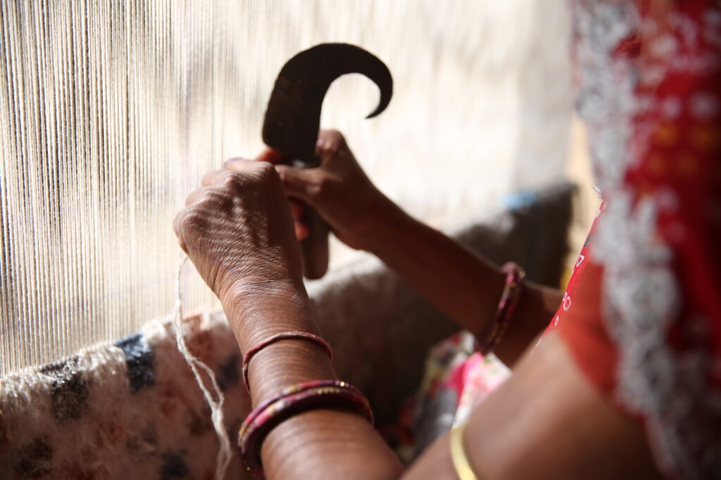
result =
[[[249,411],[242,358],[222,314],[185,320],[190,350],[213,368],[226,428]],[[201,479],[218,439],[170,322],[0,381],[0,479]],[[235,445],[234,445],[235,448]],[[239,456],[227,478],[250,478]]]

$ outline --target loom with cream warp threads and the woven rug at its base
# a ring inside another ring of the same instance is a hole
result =
[[[353,43],[392,68],[392,110],[363,122],[376,90],[344,78],[321,122],[381,189],[558,281],[573,190],[559,184],[563,2],[9,0],[0,30],[2,478],[218,475],[211,412],[170,321],[171,222],[205,171],[260,151],[278,66],[311,45]],[[535,193],[493,207],[516,191]],[[331,250],[309,293],[339,374],[382,422],[454,327],[374,258]],[[191,266],[180,291],[183,338],[216,376],[232,438],[248,407],[237,346]],[[242,474],[233,456],[227,478]]]

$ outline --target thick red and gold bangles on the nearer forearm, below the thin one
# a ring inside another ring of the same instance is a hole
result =
[[[368,399],[345,381],[317,380],[289,386],[255,407],[240,427],[238,445],[248,471],[263,476],[260,448],[270,430],[283,420],[314,408],[350,409],[373,425]]]

